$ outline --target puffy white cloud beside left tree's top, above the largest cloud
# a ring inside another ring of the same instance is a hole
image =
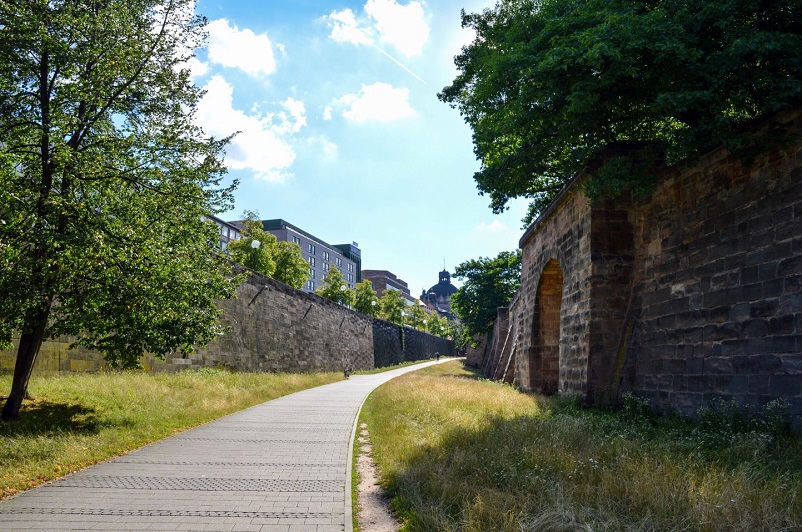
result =
[[[269,75],[276,71],[273,43],[266,33],[256,35],[247,28],[240,31],[224,18],[210,22],[206,29],[211,63],[239,68],[251,76]]]

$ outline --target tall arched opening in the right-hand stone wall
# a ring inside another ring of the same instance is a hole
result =
[[[532,389],[551,395],[557,393],[560,380],[560,308],[563,272],[552,259],[543,269],[535,296],[532,320],[532,349],[529,358],[529,382]]]

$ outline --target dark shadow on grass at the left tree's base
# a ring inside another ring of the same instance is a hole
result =
[[[106,425],[94,408],[32,400],[23,402],[18,420],[0,422],[0,436],[43,436],[60,432],[97,434]]]

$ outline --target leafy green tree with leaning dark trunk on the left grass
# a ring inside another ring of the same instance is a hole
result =
[[[19,334],[3,419],[46,337],[118,367],[221,332],[238,278],[206,214],[230,208],[227,139],[194,125],[191,0],[0,1],[0,338]]]

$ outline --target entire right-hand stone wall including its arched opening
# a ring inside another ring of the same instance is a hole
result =
[[[799,138],[802,112],[772,123]],[[782,398],[802,425],[802,144],[659,172],[649,197],[590,201],[586,170],[523,235],[515,381],[686,413]]]

